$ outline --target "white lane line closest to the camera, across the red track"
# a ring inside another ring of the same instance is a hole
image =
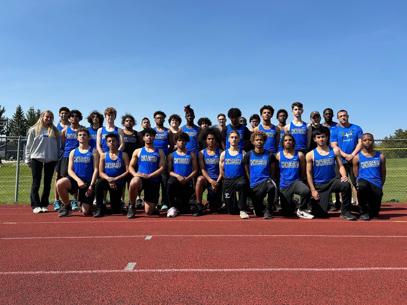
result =
[[[68,270],[68,271],[3,271],[0,275],[42,275],[81,273],[135,273],[135,272],[278,272],[278,271],[391,271],[407,267],[355,267],[355,268],[225,268],[225,269],[133,269],[133,270]]]

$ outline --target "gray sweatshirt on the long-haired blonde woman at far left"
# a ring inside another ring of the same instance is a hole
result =
[[[28,133],[25,163],[31,165],[31,159],[44,163],[57,161],[60,138],[61,135],[57,138],[48,137],[48,127],[42,127],[37,136],[35,136],[35,129],[31,129]]]

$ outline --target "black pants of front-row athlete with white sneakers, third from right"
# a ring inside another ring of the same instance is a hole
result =
[[[309,200],[311,199],[311,190],[302,181],[295,181],[293,184],[283,187],[280,190],[280,203],[281,213],[284,216],[292,215],[295,212],[297,205],[293,200],[293,195],[300,195],[300,207],[298,209],[304,210],[308,207]]]

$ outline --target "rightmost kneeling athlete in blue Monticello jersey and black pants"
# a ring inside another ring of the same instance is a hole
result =
[[[363,150],[352,159],[361,220],[377,217],[386,181],[386,158],[374,150],[371,133],[362,135]]]

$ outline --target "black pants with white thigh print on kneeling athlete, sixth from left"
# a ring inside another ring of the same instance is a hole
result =
[[[223,193],[225,194],[225,201],[226,206],[228,207],[228,214],[236,215],[240,214],[240,211],[246,211],[248,187],[249,185],[243,176],[224,179]],[[239,193],[239,203],[236,198],[236,192]]]

